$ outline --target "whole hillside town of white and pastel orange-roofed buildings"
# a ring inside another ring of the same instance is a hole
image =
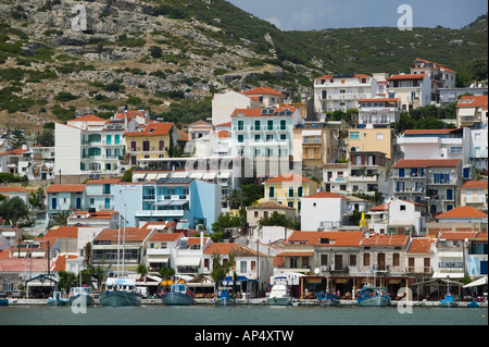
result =
[[[484,295],[464,285],[488,274],[488,87],[455,77],[419,58],[296,98],[227,89],[191,124],[122,108],[55,123],[53,146],[3,134],[0,292],[47,298],[82,272],[101,292],[123,271],[154,297],[170,271],[196,298],[283,276],[298,299],[373,277],[392,299]],[[450,104],[438,128],[405,122]]]

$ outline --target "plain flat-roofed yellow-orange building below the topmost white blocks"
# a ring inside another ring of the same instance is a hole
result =
[[[392,159],[394,151],[393,131],[391,128],[352,128],[348,131],[349,152],[377,151]]]

